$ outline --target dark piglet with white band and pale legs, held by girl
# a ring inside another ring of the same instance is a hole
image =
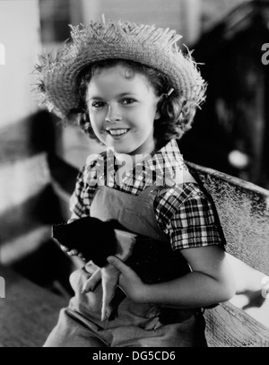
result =
[[[146,283],[169,281],[189,272],[186,260],[169,243],[135,234],[113,220],[102,222],[85,217],[68,224],[54,224],[52,238],[69,249],[77,249],[86,262],[91,260],[100,267],[84,289],[93,291],[101,282],[102,320],[115,317],[118,301],[123,299],[122,295],[115,295],[120,273],[108,264],[108,256],[119,257]]]

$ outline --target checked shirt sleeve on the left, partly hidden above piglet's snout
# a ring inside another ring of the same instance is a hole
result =
[[[70,221],[90,215],[91,202],[96,190],[88,184],[88,169],[84,166],[76,179],[74,193],[70,198],[70,211],[72,213]]]

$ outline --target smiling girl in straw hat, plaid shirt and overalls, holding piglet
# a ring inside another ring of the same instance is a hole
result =
[[[107,150],[81,170],[71,220],[116,219],[170,245],[175,259],[166,265],[184,270],[146,284],[117,256],[108,257],[121,273],[125,299],[115,319],[101,321],[101,285],[94,291],[88,285],[98,267],[87,263],[71,275],[74,298],[45,346],[206,345],[200,309],[230,300],[235,290],[213,205],[176,143],[204,101],[204,80],[173,30],[91,22],[73,28],[72,38],[55,58],[41,58],[39,92],[49,109],[76,119]]]

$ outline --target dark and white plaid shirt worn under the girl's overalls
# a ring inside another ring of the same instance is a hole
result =
[[[161,230],[169,235],[173,249],[223,243],[212,204],[200,187],[190,182],[175,186],[166,184],[166,178],[187,169],[175,140],[135,164],[134,169],[120,168],[115,161],[112,150],[89,156],[79,172],[71,197],[71,219],[90,215],[91,201],[99,185],[138,196],[145,187],[160,181],[159,194],[153,202],[154,212]]]

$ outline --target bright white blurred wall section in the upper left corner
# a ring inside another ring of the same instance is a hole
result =
[[[30,73],[40,53],[38,0],[0,1],[0,44],[5,50],[5,65],[0,62],[2,127],[37,108],[30,92]]]

